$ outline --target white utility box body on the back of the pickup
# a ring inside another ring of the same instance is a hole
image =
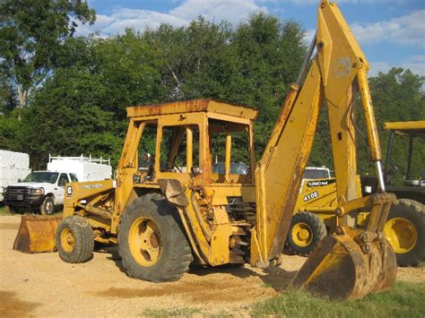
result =
[[[110,159],[90,157],[51,157],[48,156],[48,171],[74,173],[78,181],[98,181],[110,179],[112,168]]]

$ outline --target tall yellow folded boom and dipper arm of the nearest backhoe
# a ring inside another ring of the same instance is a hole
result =
[[[317,54],[312,60],[314,48]],[[305,72],[309,65],[308,72]],[[257,222],[253,231],[256,249],[251,263],[267,266],[282,254],[301,179],[317,130],[320,107],[327,107],[337,184],[339,224],[354,227],[359,209],[372,209],[370,229],[379,236],[393,198],[383,194],[381,205],[366,204],[356,184],[355,101],[360,92],[368,132],[369,152],[377,166],[382,192],[385,185],[380,165],[377,127],[369,94],[369,64],[354,39],[343,14],[327,0],[318,6],[317,35],[308,49],[297,83],[292,84],[256,167]],[[301,80],[304,79],[301,85]],[[374,198],[374,202],[380,199]],[[348,203],[347,203],[348,202]],[[388,204],[389,202],[389,204]],[[350,204],[349,204],[350,203]],[[349,207],[349,209],[343,209]],[[341,229],[343,231],[343,229]],[[352,237],[353,238],[353,237]],[[370,242],[369,242],[370,243]]]

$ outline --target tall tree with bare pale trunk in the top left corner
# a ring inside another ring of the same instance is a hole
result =
[[[22,108],[52,72],[77,22],[93,23],[95,13],[82,0],[7,0],[0,14],[0,69]]]

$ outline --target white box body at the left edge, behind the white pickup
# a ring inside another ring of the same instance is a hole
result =
[[[0,202],[4,189],[30,174],[30,155],[23,152],[0,150]]]

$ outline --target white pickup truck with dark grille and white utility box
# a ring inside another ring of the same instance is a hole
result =
[[[30,209],[53,214],[64,204],[65,185],[70,182],[108,179],[112,175],[110,160],[91,157],[50,157],[48,171],[35,171],[18,183],[9,185],[4,193],[8,211]]]

